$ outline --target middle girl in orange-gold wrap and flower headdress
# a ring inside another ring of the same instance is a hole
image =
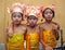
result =
[[[27,11],[29,13],[27,12],[26,50],[39,50],[39,26],[37,24],[39,10],[30,8]]]

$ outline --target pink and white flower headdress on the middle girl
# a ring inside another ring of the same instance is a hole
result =
[[[36,17],[40,16],[41,12],[42,12],[42,8],[43,7],[27,7],[26,8],[26,16],[28,15],[35,15]]]

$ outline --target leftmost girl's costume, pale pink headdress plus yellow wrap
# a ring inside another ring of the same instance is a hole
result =
[[[10,14],[21,12],[24,14],[25,4],[14,3],[12,8],[8,8]],[[8,50],[24,50],[24,34],[14,33],[12,37],[8,37]]]

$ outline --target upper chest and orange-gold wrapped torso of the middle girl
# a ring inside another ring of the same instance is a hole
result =
[[[39,28],[34,29],[27,28],[26,34],[27,50],[38,50],[39,49]]]

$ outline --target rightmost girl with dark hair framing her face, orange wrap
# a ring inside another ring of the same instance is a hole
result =
[[[46,8],[42,12],[42,16],[46,22],[40,25],[40,37],[44,50],[53,50],[56,46],[56,40],[60,38],[60,25],[52,21],[54,15],[54,10],[51,8]]]

